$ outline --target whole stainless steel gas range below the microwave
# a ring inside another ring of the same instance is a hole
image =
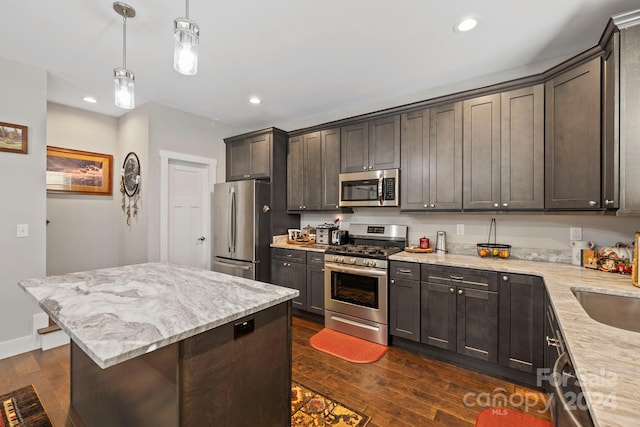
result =
[[[406,225],[349,226],[349,244],[325,251],[325,327],[388,344],[387,258],[406,244]]]

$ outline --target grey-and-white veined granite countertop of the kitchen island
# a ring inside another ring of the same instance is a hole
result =
[[[20,280],[101,368],[298,296],[213,271],[147,263]]]

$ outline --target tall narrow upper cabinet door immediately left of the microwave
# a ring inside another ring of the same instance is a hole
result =
[[[340,128],[322,131],[322,207],[340,209]]]

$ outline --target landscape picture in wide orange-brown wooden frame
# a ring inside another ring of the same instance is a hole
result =
[[[47,147],[47,193],[113,194],[113,156]]]

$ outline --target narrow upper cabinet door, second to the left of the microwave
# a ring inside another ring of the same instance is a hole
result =
[[[304,210],[322,207],[322,140],[320,132],[302,136],[304,141]]]

